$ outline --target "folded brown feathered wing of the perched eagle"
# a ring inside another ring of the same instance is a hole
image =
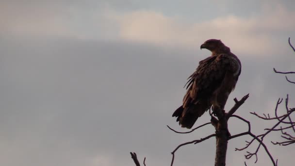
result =
[[[206,99],[209,102],[213,92],[222,84],[226,73],[236,69],[231,59],[232,57],[228,54],[220,54],[199,62],[196,71],[185,84],[187,92],[183,98],[183,108],[199,100]]]

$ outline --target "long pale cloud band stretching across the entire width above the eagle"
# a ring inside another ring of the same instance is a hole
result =
[[[217,38],[237,54],[262,56],[278,53],[278,34],[295,29],[295,22],[290,21],[295,12],[279,3],[265,3],[260,13],[252,16],[217,15],[207,21],[165,16],[154,10],[123,12],[114,7],[118,5],[115,0],[42,4],[2,3],[0,34],[127,40],[185,49],[198,49],[205,40]]]

